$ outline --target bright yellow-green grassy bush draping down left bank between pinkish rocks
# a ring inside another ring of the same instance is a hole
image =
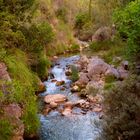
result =
[[[22,120],[25,124],[25,132],[27,134],[35,133],[39,125],[35,96],[37,76],[29,69],[26,55],[20,50],[14,49],[7,52],[3,61],[7,64],[12,82],[1,81],[0,85],[4,87],[5,91],[2,91],[4,94],[1,96],[0,103],[20,104],[23,108]]]

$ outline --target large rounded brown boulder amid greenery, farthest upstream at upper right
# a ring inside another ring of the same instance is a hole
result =
[[[92,36],[93,42],[110,40],[113,34],[113,30],[110,27],[101,27]]]

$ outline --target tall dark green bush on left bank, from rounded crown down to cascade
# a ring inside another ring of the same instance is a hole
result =
[[[29,52],[32,70],[37,72],[40,78],[47,75],[47,68],[50,65],[46,57],[45,47],[53,40],[54,33],[51,26],[47,23],[33,24],[31,27],[21,28],[24,33],[27,46],[24,50]]]

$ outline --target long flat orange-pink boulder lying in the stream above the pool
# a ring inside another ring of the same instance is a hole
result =
[[[44,98],[45,103],[61,103],[67,100],[67,97],[62,94],[47,95]]]

